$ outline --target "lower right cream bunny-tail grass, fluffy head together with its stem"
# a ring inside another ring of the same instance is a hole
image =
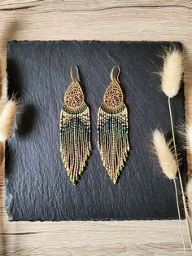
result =
[[[176,203],[177,203],[177,213],[178,213],[179,224],[181,229],[181,238],[182,238],[184,253],[186,255],[185,240],[184,240],[184,235],[183,235],[183,230],[181,225],[181,213],[180,213],[177,183],[176,183],[177,161],[170,148],[170,143],[166,142],[164,133],[158,129],[156,129],[153,132],[153,148],[155,150],[156,156],[158,157],[159,166],[163,170],[163,173],[165,174],[166,177],[168,177],[168,179],[172,179],[174,183]]]

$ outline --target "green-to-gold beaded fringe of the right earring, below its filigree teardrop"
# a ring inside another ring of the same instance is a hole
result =
[[[98,110],[98,148],[107,174],[116,183],[129,152],[128,112],[124,104],[117,109],[102,105]]]

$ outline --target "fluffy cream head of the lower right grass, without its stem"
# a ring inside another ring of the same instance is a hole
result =
[[[168,179],[175,179],[177,175],[177,161],[169,148],[169,143],[166,142],[162,131],[156,129],[153,132],[153,145],[155,153],[159,160],[159,166]]]

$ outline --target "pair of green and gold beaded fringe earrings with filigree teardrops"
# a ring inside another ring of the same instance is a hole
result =
[[[116,78],[115,68],[118,68]],[[72,183],[79,179],[91,152],[89,107],[85,104],[77,67],[76,74],[77,78],[74,78],[71,67],[72,83],[65,92],[60,113],[60,149]],[[128,111],[119,75],[120,67],[116,65],[111,69],[111,83],[105,91],[103,104],[98,108],[98,149],[113,183],[116,183],[129,152]]]

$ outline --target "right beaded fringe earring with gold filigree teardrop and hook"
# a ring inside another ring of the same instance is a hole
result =
[[[116,78],[115,68],[118,69]],[[116,183],[130,149],[128,110],[123,101],[119,75],[120,67],[116,65],[111,69],[111,83],[105,91],[103,104],[98,108],[98,149],[113,183]]]

